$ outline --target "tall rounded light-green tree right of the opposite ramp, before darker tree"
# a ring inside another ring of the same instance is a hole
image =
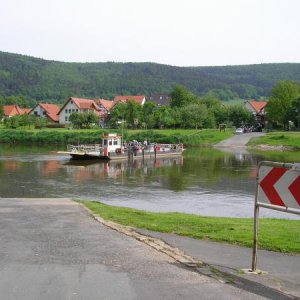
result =
[[[268,120],[288,129],[293,114],[292,103],[298,96],[299,86],[297,83],[290,80],[278,82],[272,89],[270,100],[266,106]]]

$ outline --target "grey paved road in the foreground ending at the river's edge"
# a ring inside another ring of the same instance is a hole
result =
[[[266,299],[191,271],[68,199],[0,198],[0,299]]]

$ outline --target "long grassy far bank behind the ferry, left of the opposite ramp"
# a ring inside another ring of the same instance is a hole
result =
[[[99,143],[104,132],[116,132],[116,129],[68,130],[51,129],[0,129],[0,143],[8,144],[79,144]],[[124,130],[125,140],[144,141],[148,139],[158,143],[183,143],[185,145],[212,145],[232,135],[231,130]]]

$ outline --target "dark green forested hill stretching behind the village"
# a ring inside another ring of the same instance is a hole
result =
[[[0,96],[63,102],[69,96],[170,93],[176,84],[222,100],[260,98],[279,80],[300,81],[300,64],[175,67],[155,63],[65,63],[0,52]]]

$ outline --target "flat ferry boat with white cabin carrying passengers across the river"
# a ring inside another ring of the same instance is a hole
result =
[[[81,160],[118,160],[178,156],[182,155],[183,151],[183,144],[139,143],[137,141],[125,144],[122,136],[109,133],[102,137],[101,144],[67,145],[67,151],[59,153],[69,154],[73,159]]]

